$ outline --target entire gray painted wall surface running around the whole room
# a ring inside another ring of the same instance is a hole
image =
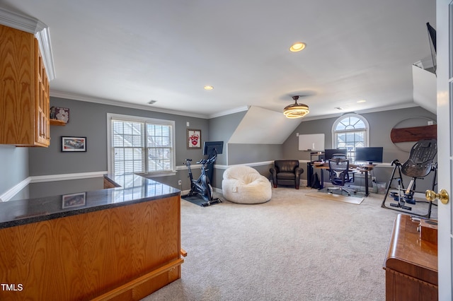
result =
[[[202,143],[204,141],[224,141],[224,155],[219,155],[217,165],[235,165],[247,163],[260,163],[275,159],[310,160],[309,152],[298,151],[299,134],[319,134],[326,136],[325,146],[331,148],[331,129],[336,118],[303,121],[289,135],[282,145],[255,145],[231,144],[227,141],[233,134],[236,126],[246,112],[238,112],[212,119],[185,117],[175,114],[137,110],[113,105],[101,105],[92,102],[81,102],[61,98],[51,98],[50,104],[59,107],[69,107],[70,120],[66,126],[51,126],[51,143],[49,148],[16,148],[14,146],[0,146],[0,194],[26,179],[28,176],[58,175],[76,172],[99,172],[107,170],[107,113],[130,114],[134,116],[170,119],[176,123],[176,165],[181,167],[185,158],[199,160],[202,150],[187,149],[186,122],[190,122],[190,129],[201,129]],[[411,107],[402,110],[391,110],[362,114],[370,126],[370,146],[384,147],[384,161],[398,159],[404,162],[408,152],[399,150],[390,140],[391,128],[407,117],[428,117],[436,119],[435,114],[422,109]],[[86,136],[86,153],[62,153],[61,136]],[[268,176],[268,165],[254,166],[263,175]],[[224,168],[224,167],[223,167]],[[213,186],[220,188],[224,169],[214,170]],[[374,175],[378,182],[389,179],[391,168],[377,168]],[[194,170],[194,176],[200,175],[200,170]],[[430,182],[430,176],[425,182]],[[302,178],[306,179],[306,172]],[[178,179],[183,182],[178,187]],[[164,182],[182,190],[189,189],[188,172],[179,170],[175,177],[159,177],[159,182]],[[408,183],[408,181],[406,181]],[[423,189],[424,185],[418,184]],[[429,186],[429,185],[428,185]]]

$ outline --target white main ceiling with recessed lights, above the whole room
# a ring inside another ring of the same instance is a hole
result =
[[[51,95],[214,117],[248,106],[307,117],[409,107],[430,57],[428,0],[0,0],[50,31]],[[306,49],[292,53],[292,43]],[[214,90],[204,90],[213,85]],[[157,100],[150,106],[147,102]],[[357,100],[367,100],[357,103]]]

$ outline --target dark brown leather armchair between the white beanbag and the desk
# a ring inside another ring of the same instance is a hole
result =
[[[270,167],[270,174],[274,188],[277,185],[294,185],[299,189],[300,175],[304,169],[299,167],[299,160],[275,160],[274,167]]]

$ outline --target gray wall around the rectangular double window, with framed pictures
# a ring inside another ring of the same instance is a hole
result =
[[[107,170],[107,113],[175,121],[176,166],[183,165],[186,158],[202,158],[202,149],[187,148],[187,129],[200,129],[202,143],[210,136],[208,121],[202,118],[62,98],[50,98],[50,105],[68,107],[69,122],[65,126],[51,126],[49,148],[30,148],[30,176]],[[186,126],[187,122],[190,126]],[[86,136],[86,153],[62,153],[61,136]],[[181,179],[183,187],[178,188],[188,189],[187,176],[187,170],[180,170],[176,177],[159,177],[156,180],[178,187],[178,179]]]

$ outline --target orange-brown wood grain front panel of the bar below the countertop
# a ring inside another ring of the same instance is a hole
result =
[[[0,290],[0,300],[139,300],[180,278],[183,262],[180,196],[5,228],[0,237],[0,283],[23,285]]]

